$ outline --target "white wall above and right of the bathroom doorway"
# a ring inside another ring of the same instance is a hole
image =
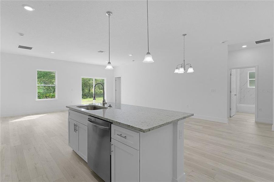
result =
[[[258,65],[258,122],[272,123],[273,47],[258,46],[228,52],[228,68]],[[259,109],[262,108],[262,111]]]

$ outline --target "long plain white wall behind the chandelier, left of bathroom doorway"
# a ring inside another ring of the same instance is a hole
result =
[[[114,75],[122,76],[121,103],[190,112],[196,118],[227,122],[227,46],[188,49],[186,63],[192,64],[194,72],[184,74],[173,73],[182,63],[182,51],[151,54],[154,63],[136,60],[114,69]]]

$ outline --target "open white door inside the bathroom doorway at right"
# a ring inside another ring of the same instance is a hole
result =
[[[230,70],[230,117],[236,113],[236,69]]]

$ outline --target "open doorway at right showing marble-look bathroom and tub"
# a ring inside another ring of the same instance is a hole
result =
[[[258,66],[230,69],[230,117],[258,117]]]

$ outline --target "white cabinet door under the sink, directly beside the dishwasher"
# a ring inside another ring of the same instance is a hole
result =
[[[88,161],[88,126],[77,122],[77,133],[78,133],[78,155],[82,157],[86,162]]]

